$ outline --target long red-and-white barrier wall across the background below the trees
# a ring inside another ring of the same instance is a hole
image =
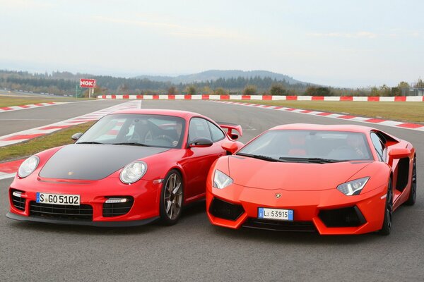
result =
[[[98,99],[424,102],[424,96],[101,95]]]

